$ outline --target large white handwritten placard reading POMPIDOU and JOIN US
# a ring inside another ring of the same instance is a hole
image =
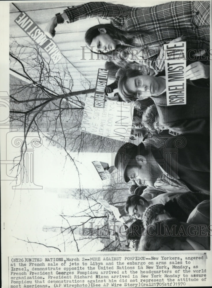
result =
[[[107,101],[104,108],[93,107],[94,97],[87,96],[81,131],[115,140],[129,140],[133,108],[130,103]]]

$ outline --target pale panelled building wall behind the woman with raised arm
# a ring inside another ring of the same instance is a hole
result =
[[[72,1],[72,2],[15,2],[16,7],[10,3],[10,42],[14,40],[17,41],[20,45],[29,46],[29,43],[33,41],[27,36],[27,34],[18,27],[14,20],[18,17],[20,11],[26,12],[32,20],[40,26],[41,29],[45,29],[47,22],[58,12],[63,12],[64,9],[68,6],[80,5],[85,2]],[[149,6],[149,1],[113,1],[111,3],[116,4],[126,4],[130,6]],[[156,1],[155,1],[156,3]],[[157,1],[157,3],[164,3],[164,1]],[[153,4],[151,4],[153,5]],[[91,26],[97,25],[99,23],[109,23],[104,19],[89,18],[80,20],[71,24],[66,22],[62,25],[58,25],[56,28],[56,35],[54,37],[55,43],[58,45],[60,51],[62,52],[64,58],[57,65],[50,64],[50,69],[52,71],[57,71],[57,69],[63,69],[63,65],[67,65],[70,74],[72,75],[74,86],[73,90],[81,90],[83,82],[85,88],[89,88],[90,84],[85,84],[90,82],[91,86],[95,86],[97,71],[98,68],[104,68],[104,60],[90,60],[91,54],[88,49],[86,52],[89,54],[85,55],[86,60],[82,59],[82,48],[80,46],[85,46],[85,31]],[[14,51],[14,50],[13,50]],[[49,56],[46,52],[42,50],[43,57],[48,61]],[[93,58],[97,57],[95,54],[92,54]],[[31,55],[31,48],[22,49],[23,58],[33,57]],[[17,70],[19,73],[22,73],[22,67],[20,64],[11,62],[11,68]],[[35,73],[37,73],[35,71]],[[65,79],[66,80],[66,79]],[[67,79],[69,80],[69,79]],[[108,83],[111,83],[111,80],[108,80]]]

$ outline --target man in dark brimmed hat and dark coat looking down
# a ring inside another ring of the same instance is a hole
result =
[[[115,167],[125,182],[132,180],[139,186],[153,186],[165,192],[209,194],[209,146],[209,135],[196,137],[195,134],[184,134],[179,140],[166,137],[162,142],[159,138],[158,149],[145,148],[143,143],[124,144],[115,156]],[[121,157],[123,151],[124,157]]]

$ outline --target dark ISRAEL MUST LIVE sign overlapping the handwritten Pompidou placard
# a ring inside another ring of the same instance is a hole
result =
[[[105,87],[108,82],[108,70],[99,69],[94,94],[94,107],[104,108]]]

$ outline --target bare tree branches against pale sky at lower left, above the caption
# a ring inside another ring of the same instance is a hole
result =
[[[99,201],[102,198],[109,201],[112,191],[82,189],[81,192],[74,191],[72,196],[78,199],[79,193],[81,200],[86,200],[86,208],[80,209],[76,214],[60,214],[61,227],[48,227],[46,231],[50,229],[56,232],[55,236],[61,238],[64,251],[68,251],[70,247],[76,251],[95,251],[95,246],[100,245],[100,242],[104,245],[101,251],[127,250],[126,247],[121,247],[118,234],[115,233],[116,228],[109,229],[108,217],[111,212]],[[110,237],[111,230],[114,230],[115,239]],[[46,245],[50,246],[48,243]],[[61,247],[60,249],[62,250]]]

